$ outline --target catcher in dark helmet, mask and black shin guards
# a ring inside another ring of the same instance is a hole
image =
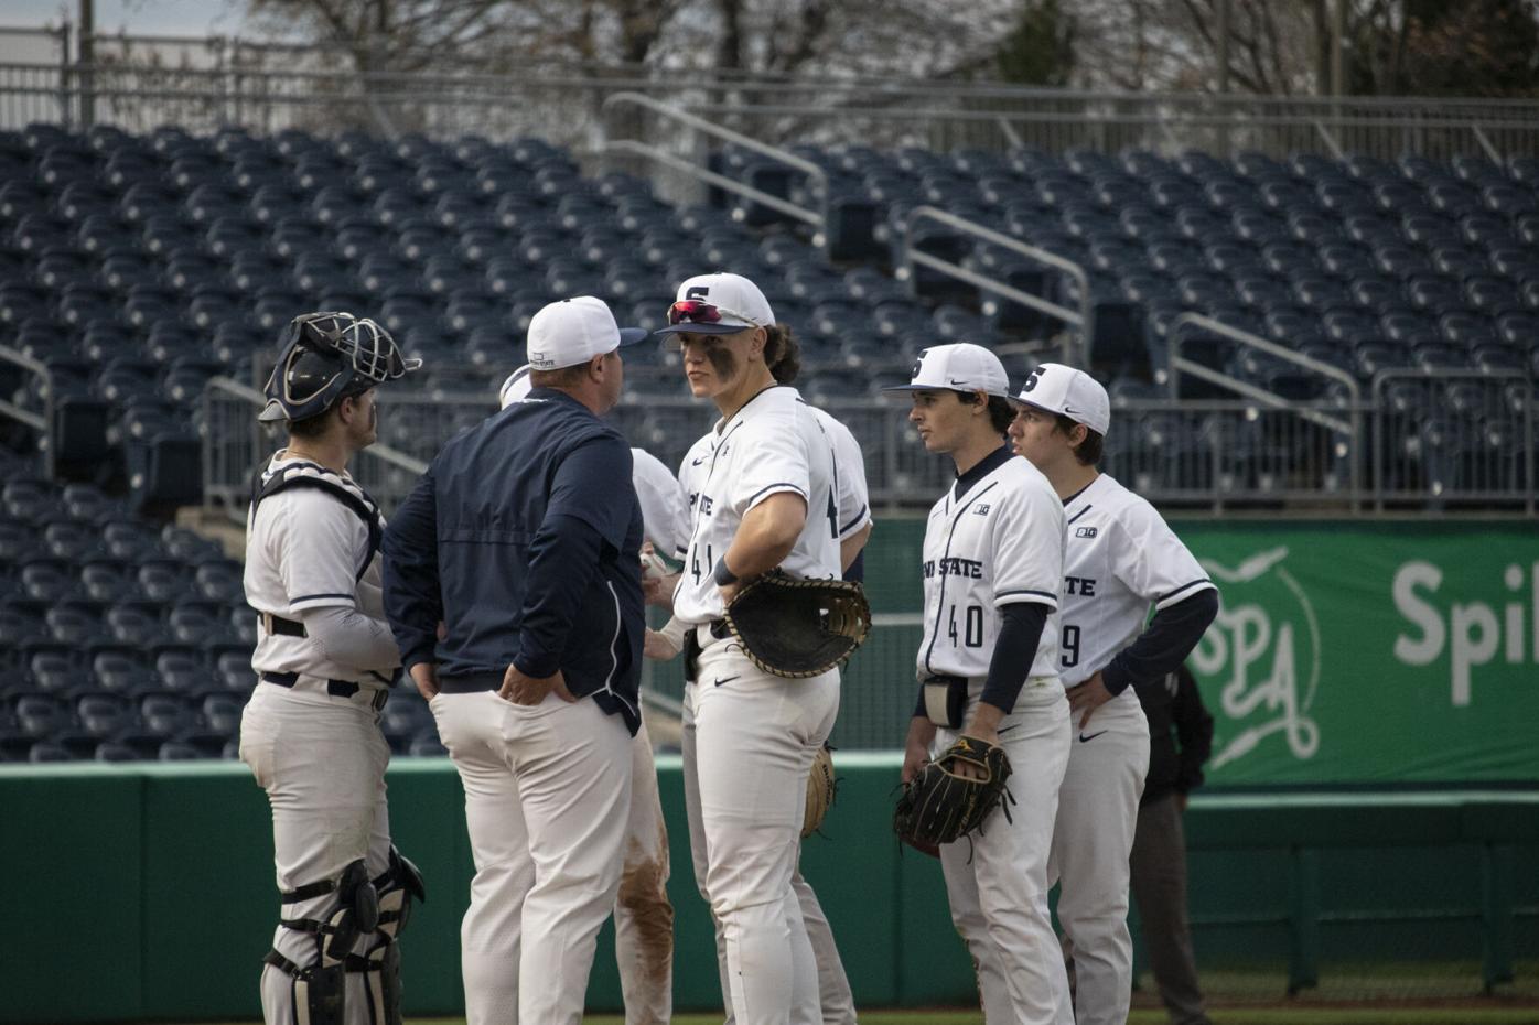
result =
[[[396,940],[423,888],[389,840],[385,802],[379,719],[400,666],[380,605],[385,522],[348,462],[374,443],[376,385],[417,366],[372,320],[305,314],[259,417],[288,426],[246,517],[259,682],[240,759],[272,805],[283,903],[262,970],[268,1025],[402,1020]]]

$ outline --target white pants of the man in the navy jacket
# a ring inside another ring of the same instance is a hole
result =
[[[580,1025],[620,885],[633,742],[593,700],[439,694],[476,877],[460,925],[466,1025]]]

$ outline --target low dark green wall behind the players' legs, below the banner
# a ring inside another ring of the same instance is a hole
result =
[[[842,754],[828,837],[806,842],[862,1007],[966,1003],[939,863],[890,833],[896,756]],[[680,1010],[719,1007],[694,891],[679,760],[659,763],[677,908]],[[392,831],[429,900],[403,939],[406,1008],[462,1008],[459,919],[471,859],[442,759],[389,770]],[[262,791],[239,763],[0,768],[0,871],[11,882],[0,1020],[257,1019],[259,959],[279,905]],[[1468,959],[1501,980],[1539,956],[1539,794],[1199,797],[1188,813],[1202,965],[1287,962],[1310,985],[1336,959]],[[619,1008],[609,927],[589,1002]],[[1479,979],[1471,977],[1471,987]]]

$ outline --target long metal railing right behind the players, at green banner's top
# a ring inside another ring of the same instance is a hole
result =
[[[716,422],[716,408],[685,394],[673,371],[628,368],[626,377],[626,392],[609,414],[613,423],[631,445],[677,466]],[[803,368],[803,394],[860,442],[874,508],[923,509],[951,483],[950,460],[925,451],[908,423],[906,402],[820,394],[817,377],[816,365]],[[1434,371],[1387,376],[1376,389],[1387,392],[1390,382],[1404,379],[1441,383],[1442,389],[1427,392],[1416,406],[1419,414],[1399,412],[1388,394],[1370,402],[1327,399],[1284,406],[1274,397],[1250,396],[1116,397],[1102,468],[1151,502],[1190,511],[1356,514],[1379,508],[1436,514],[1462,503],[1533,516],[1539,496],[1533,383],[1521,374]],[[1445,402],[1450,382],[1479,385],[1487,402],[1468,394],[1459,403]],[[1528,405],[1513,405],[1524,394]],[[1494,402],[1510,403],[1513,412],[1493,416],[1488,403]],[[205,494],[211,506],[235,520],[245,516],[252,472],[282,445],[255,423],[259,406],[259,392],[225,379],[215,379],[205,394]],[[354,474],[394,509],[443,442],[496,408],[489,394],[394,386],[380,400],[380,443],[365,449]],[[1428,409],[1439,412],[1441,434],[1417,440]],[[1493,439],[1502,425],[1507,432]],[[1494,440],[1496,446],[1450,442],[1434,449],[1439,437]],[[1451,462],[1454,456],[1462,462]]]

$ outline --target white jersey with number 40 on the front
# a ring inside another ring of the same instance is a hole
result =
[[[988,676],[999,609],[1036,602],[1050,611],[1028,676],[1053,676],[1062,579],[1063,503],[1042,471],[1017,456],[960,499],[953,485],[930,509],[925,528],[919,674]]]

